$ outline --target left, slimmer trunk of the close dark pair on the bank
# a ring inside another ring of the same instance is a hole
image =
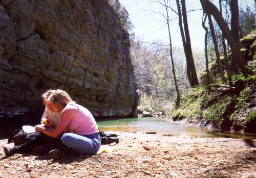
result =
[[[178,9],[178,15],[179,15],[180,34],[181,34],[183,49],[184,49],[186,62],[187,62],[187,67],[186,67],[187,79],[188,79],[188,82],[189,82],[190,86],[192,86],[193,85],[192,75],[191,75],[190,65],[188,65],[189,64],[189,59],[188,59],[188,56],[187,56],[186,40],[185,40],[185,35],[184,35],[184,31],[183,31],[183,26],[182,26],[182,14],[181,14],[181,9],[180,9],[180,1],[176,0],[176,4],[177,4],[177,9]]]

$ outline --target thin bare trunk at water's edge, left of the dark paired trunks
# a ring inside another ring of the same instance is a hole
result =
[[[172,38],[170,38],[169,15],[168,15],[168,9],[167,9],[165,0],[164,0],[164,5],[165,5],[165,10],[166,10],[166,15],[167,15],[166,23],[167,23],[167,27],[168,27],[168,33],[169,33],[170,59],[172,60],[174,84],[175,84],[175,89],[176,89],[176,93],[177,93],[176,106],[178,106],[178,105],[180,105],[180,92],[179,92],[179,88],[178,88],[178,84],[177,84],[177,79],[176,79],[176,74],[175,74],[175,68],[174,68]]]

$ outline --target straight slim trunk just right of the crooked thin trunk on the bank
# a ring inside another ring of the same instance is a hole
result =
[[[222,65],[221,65],[221,57],[220,57],[220,52],[219,52],[219,46],[218,46],[218,42],[217,42],[217,39],[216,39],[215,31],[214,31],[214,24],[212,23],[212,20],[211,20],[211,15],[208,15],[208,21],[209,21],[210,33],[211,33],[212,41],[214,41],[214,49],[215,49],[215,53],[216,53],[218,72],[221,75],[221,80],[223,82],[226,82],[226,79],[224,77],[223,68],[222,68]]]

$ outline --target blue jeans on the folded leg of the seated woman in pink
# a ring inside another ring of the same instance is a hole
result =
[[[75,151],[83,155],[95,155],[100,148],[99,134],[77,135],[72,133],[63,134],[61,142],[68,148],[73,148]]]

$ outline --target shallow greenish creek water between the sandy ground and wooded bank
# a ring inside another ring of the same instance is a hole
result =
[[[157,132],[157,134],[172,134],[188,137],[222,137],[237,139],[256,139],[256,134],[240,132],[221,132],[196,126],[188,126],[167,121],[164,117],[120,118],[97,120],[101,131],[132,131]]]

